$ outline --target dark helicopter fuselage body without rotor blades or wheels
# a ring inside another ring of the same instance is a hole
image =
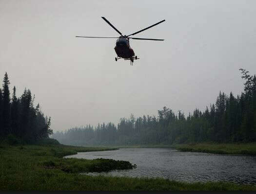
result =
[[[114,49],[118,57],[124,59],[133,58],[133,56],[135,55],[133,49],[130,47],[129,39],[126,39],[125,37],[119,37],[117,39]]]

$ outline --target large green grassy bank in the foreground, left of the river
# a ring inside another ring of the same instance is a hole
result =
[[[223,182],[190,184],[162,178],[80,175],[80,172],[108,171],[122,169],[123,166],[127,168],[127,163],[62,158],[76,152],[103,150],[109,149],[63,145],[0,145],[0,190],[256,190],[256,186],[252,185]]]

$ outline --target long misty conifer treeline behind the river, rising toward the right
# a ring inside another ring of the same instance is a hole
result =
[[[256,141],[256,75],[240,69],[244,92],[235,97],[219,92],[216,103],[202,112],[197,108],[187,117],[163,107],[158,117],[121,118],[113,123],[75,127],[57,132],[53,138],[73,145],[172,144],[202,141]]]

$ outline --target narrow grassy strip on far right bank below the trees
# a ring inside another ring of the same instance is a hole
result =
[[[256,143],[196,143],[176,144],[174,147],[187,152],[256,156]]]

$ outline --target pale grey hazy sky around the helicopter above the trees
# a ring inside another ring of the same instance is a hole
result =
[[[162,19],[130,40],[140,58],[115,61],[118,36]],[[0,0],[0,78],[30,88],[54,131],[117,123],[134,113],[205,109],[219,90],[243,89],[256,73],[255,0]]]

